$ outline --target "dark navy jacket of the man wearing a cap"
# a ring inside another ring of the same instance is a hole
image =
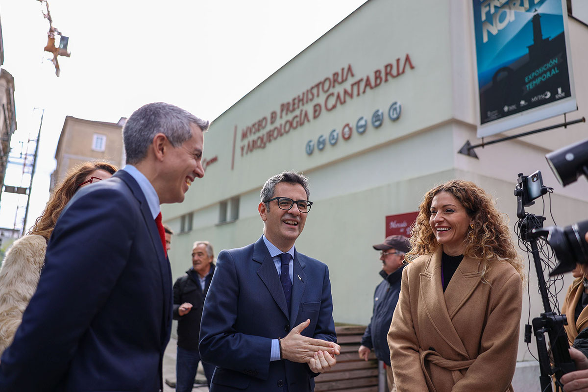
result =
[[[373,293],[373,313],[372,320],[362,337],[362,345],[369,347],[376,354],[376,358],[384,361],[390,366],[390,348],[388,347],[388,330],[392,323],[392,314],[398,303],[400,294],[400,279],[402,278],[401,266],[395,272],[386,275],[381,270],[380,276],[384,278],[382,283],[378,284],[376,291]]]

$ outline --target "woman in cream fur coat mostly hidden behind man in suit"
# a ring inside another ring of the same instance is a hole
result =
[[[87,162],[74,167],[55,188],[29,233],[16,240],[6,253],[0,268],[0,355],[12,343],[22,314],[35,293],[47,242],[62,210],[79,188],[107,179],[115,172],[116,167],[107,162]]]

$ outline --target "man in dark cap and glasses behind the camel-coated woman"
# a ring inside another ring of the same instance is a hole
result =
[[[380,276],[382,283],[378,284],[373,294],[372,320],[362,337],[362,344],[359,346],[359,357],[368,360],[372,349],[376,358],[384,361],[387,365],[386,375],[388,388],[391,392],[396,391],[392,368],[390,368],[390,349],[387,342],[387,334],[392,322],[392,314],[396,309],[398,296],[400,294],[400,278],[404,268],[405,254],[410,250],[410,244],[405,236],[389,236],[383,243],[376,244],[373,249],[380,250],[382,270]]]

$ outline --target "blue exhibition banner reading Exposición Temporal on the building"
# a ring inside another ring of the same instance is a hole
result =
[[[477,136],[576,110],[566,1],[472,1]]]

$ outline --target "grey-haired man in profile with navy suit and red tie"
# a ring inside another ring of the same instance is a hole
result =
[[[0,363],[0,391],[162,390],[172,277],[160,203],[196,178],[208,121],[167,103],[123,129],[127,165],[62,212],[41,279]]]

